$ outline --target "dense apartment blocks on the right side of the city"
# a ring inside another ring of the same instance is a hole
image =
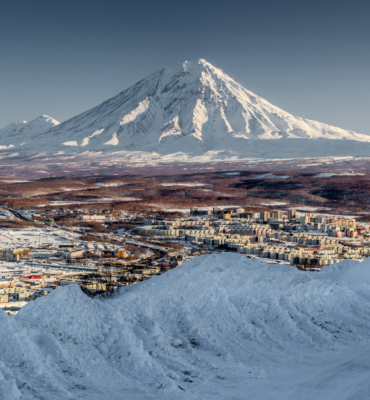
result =
[[[370,255],[366,242],[351,242],[370,233],[369,225],[356,224],[353,218],[298,216],[296,210],[249,213],[214,207],[204,212],[193,207],[190,218],[144,220],[137,230],[309,269]]]

